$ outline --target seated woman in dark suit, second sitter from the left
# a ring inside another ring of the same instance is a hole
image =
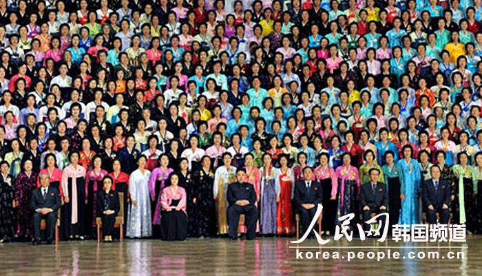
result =
[[[104,242],[112,242],[114,222],[116,222],[116,215],[121,209],[121,204],[117,191],[112,190],[114,180],[110,176],[105,176],[102,183],[104,189],[98,191],[97,194],[97,216],[102,218]]]

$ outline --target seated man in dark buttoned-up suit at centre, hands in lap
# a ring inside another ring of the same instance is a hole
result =
[[[240,215],[244,214],[244,222],[247,227],[246,238],[254,240],[258,220],[258,209],[254,206],[256,192],[252,184],[244,181],[246,180],[246,169],[238,169],[236,180],[238,181],[229,184],[227,192],[229,239],[236,240],[238,238]]]

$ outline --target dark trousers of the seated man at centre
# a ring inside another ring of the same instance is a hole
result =
[[[256,220],[258,220],[258,209],[253,205],[239,206],[233,204],[228,207],[228,226],[229,237],[238,237],[238,224],[240,215],[244,214],[244,224],[246,224],[246,237],[254,239],[256,233]]]

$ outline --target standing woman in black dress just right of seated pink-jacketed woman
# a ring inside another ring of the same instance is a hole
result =
[[[216,205],[213,199],[214,173],[211,170],[211,158],[201,158],[200,169],[193,173],[193,213],[189,213],[189,223],[193,226],[192,237],[209,237],[216,235]]]

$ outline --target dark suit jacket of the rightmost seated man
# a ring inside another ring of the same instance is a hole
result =
[[[425,208],[428,205],[434,206],[434,209],[439,209],[442,204],[449,206],[450,203],[450,185],[447,180],[439,179],[439,189],[435,190],[433,181],[431,179],[423,182],[423,206]]]

